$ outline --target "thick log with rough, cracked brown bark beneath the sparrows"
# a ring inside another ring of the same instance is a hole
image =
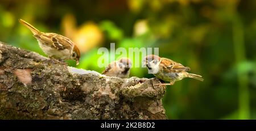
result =
[[[72,73],[0,42],[0,119],[166,119],[156,78]]]

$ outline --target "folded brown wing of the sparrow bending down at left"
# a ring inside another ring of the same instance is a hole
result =
[[[73,43],[71,40],[56,33],[43,33],[39,36],[39,40],[42,44],[54,47],[57,50],[73,48]]]

